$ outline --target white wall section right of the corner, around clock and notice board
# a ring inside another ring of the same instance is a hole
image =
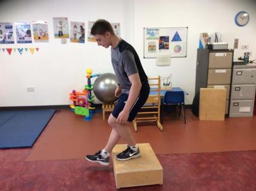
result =
[[[237,27],[234,17],[237,11],[250,14],[250,22]],[[199,35],[209,35],[220,31],[223,42],[233,49],[234,38],[239,45],[249,45],[253,58],[256,57],[256,1],[255,0],[179,0],[179,1],[134,1],[134,44],[140,57],[143,57],[143,27],[186,27],[188,26],[187,57],[173,58],[171,66],[156,66],[155,59],[143,59],[148,75],[168,75],[172,73],[173,87],[179,86],[189,93],[186,104],[193,102],[195,95],[196,49]],[[243,56],[243,50],[235,50],[234,58]],[[248,52],[248,50],[246,50]]]

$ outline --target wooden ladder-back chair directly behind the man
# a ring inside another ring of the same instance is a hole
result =
[[[148,78],[150,86],[150,92],[152,92],[147,99],[147,102],[141,111],[138,112],[136,118],[132,121],[134,131],[137,132],[137,123],[140,122],[155,122],[159,130],[163,130],[163,126],[160,123],[160,108],[161,108],[161,79],[160,76],[155,78]],[[145,111],[147,110],[147,111]]]

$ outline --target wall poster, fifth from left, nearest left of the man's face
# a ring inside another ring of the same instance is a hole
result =
[[[84,43],[84,22],[70,22],[70,42]]]

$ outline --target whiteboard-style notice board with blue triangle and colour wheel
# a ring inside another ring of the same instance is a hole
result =
[[[154,58],[159,52],[171,57],[187,56],[188,27],[144,28],[144,57]]]

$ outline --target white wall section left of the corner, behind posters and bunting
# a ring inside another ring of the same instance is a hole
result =
[[[72,89],[82,91],[87,79],[86,68],[93,73],[113,72],[110,49],[97,43],[85,42],[61,44],[54,39],[52,17],[68,17],[68,21],[85,22],[104,18],[120,22],[121,35],[133,38],[132,1],[61,1],[23,0],[1,1],[0,22],[45,20],[48,22],[49,43],[0,45],[8,47],[39,47],[34,55],[26,52],[0,52],[0,106],[63,105],[68,104]],[[87,37],[87,35],[86,35]],[[34,86],[35,92],[27,92]]]

